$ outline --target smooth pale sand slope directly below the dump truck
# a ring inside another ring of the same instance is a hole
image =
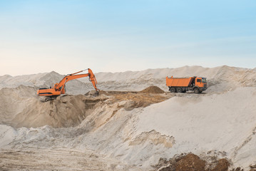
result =
[[[144,108],[136,131],[173,136],[175,144],[162,155],[220,150],[236,167],[249,167],[256,155],[255,100],[256,88],[170,98]]]

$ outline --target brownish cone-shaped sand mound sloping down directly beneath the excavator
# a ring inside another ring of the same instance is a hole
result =
[[[20,127],[41,127],[51,125],[53,128],[73,127],[79,125],[106,98],[86,98],[85,95],[59,96],[56,100],[42,103],[39,99],[17,113],[10,125]]]

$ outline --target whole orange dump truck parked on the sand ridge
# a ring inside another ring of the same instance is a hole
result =
[[[166,77],[166,86],[171,93],[185,93],[189,90],[194,93],[202,93],[203,90],[207,89],[206,78],[196,76],[190,78]]]

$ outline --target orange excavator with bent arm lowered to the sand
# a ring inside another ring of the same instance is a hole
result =
[[[88,73],[78,74],[87,70],[88,70]],[[98,94],[99,90],[97,88],[97,81],[96,81],[96,77],[93,74],[93,71],[91,71],[90,68],[83,71],[78,71],[76,73],[71,73],[66,75],[59,83],[54,84],[53,88],[39,88],[39,90],[37,90],[37,95],[45,96],[47,98],[46,101],[52,100],[53,98],[56,98],[58,95],[65,94],[66,92],[65,85],[68,81],[71,81],[77,78],[87,77],[87,76],[89,77],[89,81],[93,83],[93,87],[95,88],[96,93]]]

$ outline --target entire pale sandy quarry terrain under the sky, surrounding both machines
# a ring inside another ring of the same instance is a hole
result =
[[[153,85],[167,91],[165,76],[191,75],[208,78],[205,93],[139,92]],[[98,97],[85,93],[92,86],[81,79],[46,103],[36,89],[58,82],[58,73],[0,76],[0,167],[155,170],[160,157],[193,152],[206,161],[227,158],[230,170],[250,170],[255,76],[255,69],[228,66],[98,73]]]

